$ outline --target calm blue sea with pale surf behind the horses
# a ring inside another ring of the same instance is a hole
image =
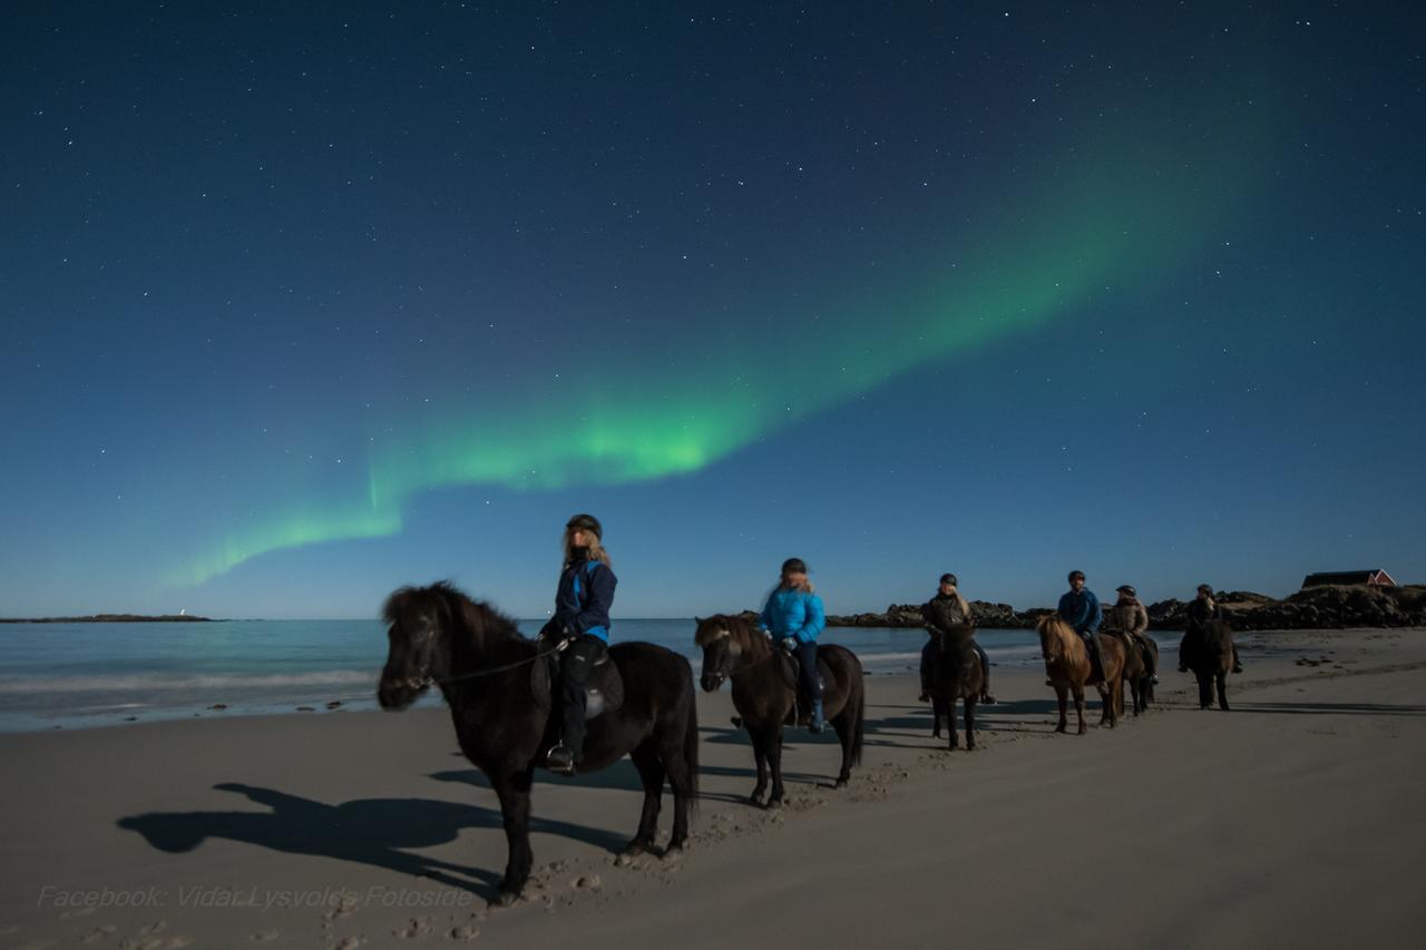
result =
[[[533,636],[542,620],[522,620]],[[700,666],[690,619],[616,620],[615,640],[647,640]],[[991,662],[1035,665],[1034,630],[977,633]],[[914,670],[920,629],[829,628],[873,673]],[[193,716],[375,709],[386,659],[379,620],[0,623],[0,730],[76,729]],[[227,709],[211,706],[224,703]],[[432,693],[422,705],[441,705]]]

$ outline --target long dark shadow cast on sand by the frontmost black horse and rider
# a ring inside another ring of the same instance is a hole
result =
[[[399,874],[414,874],[449,887],[496,897],[501,874],[455,864],[408,849],[448,844],[462,829],[501,830],[499,809],[436,799],[354,799],[327,805],[275,789],[238,782],[215,785],[235,792],[268,812],[150,812],[117,822],[137,832],[150,846],[170,854],[193,852],[208,839],[257,844],[288,854],[331,857],[371,864]],[[625,837],[613,832],[556,819],[530,819],[530,830],[559,834],[595,847],[617,852]]]

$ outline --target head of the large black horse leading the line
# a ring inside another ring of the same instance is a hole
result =
[[[386,620],[386,665],[376,688],[382,709],[405,709],[446,675],[455,623],[452,592],[446,583],[434,583],[401,588],[386,598],[381,609]]]

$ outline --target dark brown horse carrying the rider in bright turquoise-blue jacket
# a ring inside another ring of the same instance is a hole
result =
[[[694,620],[697,630],[693,642],[703,650],[703,692],[716,692],[724,679],[730,679],[733,706],[753,740],[757,785],[749,800],[761,807],[776,807],[783,800],[783,722],[797,708],[794,665],[740,616],[717,613]],[[823,709],[841,740],[841,772],[837,773],[836,787],[843,789],[851,777],[851,767],[861,763],[867,709],[861,662],[844,646],[821,645],[817,648],[817,672],[826,685]],[[769,770],[773,786],[764,803]]]

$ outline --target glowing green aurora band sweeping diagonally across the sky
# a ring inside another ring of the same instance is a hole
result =
[[[981,210],[977,220],[1000,224],[978,227],[974,247],[928,257],[921,277],[874,300],[786,321],[806,334],[811,357],[800,367],[759,365],[760,347],[720,337],[687,347],[697,359],[677,369],[606,362],[597,382],[572,379],[589,394],[580,418],[566,404],[511,397],[406,419],[401,435],[372,442],[362,496],[255,518],[170,581],[197,585],[267,552],[392,535],[408,499],[435,488],[539,491],[696,472],[917,367],[1065,318],[1107,284],[1171,277],[1222,242],[1255,178],[1242,154],[1252,137],[1224,131],[1208,157],[1201,140],[1172,140],[1161,138],[1169,147],[1158,155],[1139,140],[1101,143],[1099,161],[1078,148],[1074,164],[1088,173],[1055,167],[1015,207]]]

